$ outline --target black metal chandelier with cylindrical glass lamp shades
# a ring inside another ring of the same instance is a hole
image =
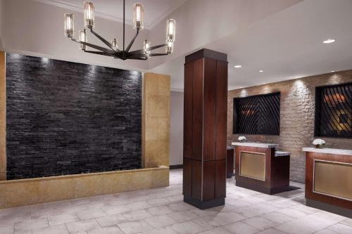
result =
[[[106,44],[108,48],[102,46],[96,46],[90,44],[87,41],[86,30],[80,30],[79,39],[74,39],[74,19],[73,13],[66,13],[65,18],[65,36],[80,44],[80,49],[87,53],[99,54],[102,56],[111,56],[113,58],[120,58],[122,60],[135,59],[135,60],[147,60],[153,56],[167,56],[173,52],[174,41],[175,41],[175,30],[176,21],[168,19],[166,21],[166,40],[165,44],[158,46],[151,46],[151,41],[145,40],[143,48],[137,51],[130,51],[134,40],[137,38],[139,31],[144,28],[144,8],[142,4],[134,4],[133,6],[133,28],[136,30],[136,34],[132,38],[130,44],[125,48],[125,0],[123,0],[123,43],[122,50],[118,48],[118,41],[113,39],[111,42],[101,37],[99,34],[94,32],[95,27],[94,20],[94,5],[91,1],[84,1],[84,26],[87,27],[94,36]],[[94,48],[96,51],[88,51],[87,47]],[[156,48],[165,47],[165,53],[151,53]]]

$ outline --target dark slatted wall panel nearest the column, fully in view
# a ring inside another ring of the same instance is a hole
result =
[[[279,135],[280,93],[234,98],[234,134]]]

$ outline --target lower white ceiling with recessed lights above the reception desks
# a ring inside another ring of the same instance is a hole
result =
[[[305,0],[204,47],[228,54],[229,89],[237,89],[351,69],[351,25],[351,0]],[[337,42],[322,44],[329,38]],[[183,63],[180,56],[153,71],[182,90]]]

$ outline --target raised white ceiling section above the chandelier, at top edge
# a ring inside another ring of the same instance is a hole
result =
[[[83,2],[85,0],[36,0],[45,4],[52,4],[74,11],[83,10]],[[108,20],[122,22],[123,19],[123,1],[122,0],[91,0],[95,6],[97,16]],[[150,29],[165,17],[170,15],[172,11],[180,7],[188,0],[126,0],[126,22],[132,24],[133,4],[141,3],[144,6],[144,25],[146,29]]]

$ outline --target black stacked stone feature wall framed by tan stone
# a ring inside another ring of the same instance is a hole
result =
[[[142,74],[6,55],[7,179],[141,168]]]

